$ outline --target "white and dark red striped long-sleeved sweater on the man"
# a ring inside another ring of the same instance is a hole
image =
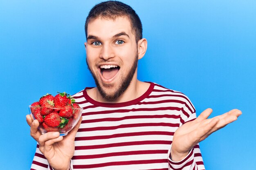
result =
[[[71,170],[204,170],[198,145],[182,161],[170,159],[175,130],[196,117],[186,95],[150,83],[141,97],[109,104],[90,98],[88,89],[73,95],[83,120]],[[47,169],[37,145],[31,170]]]

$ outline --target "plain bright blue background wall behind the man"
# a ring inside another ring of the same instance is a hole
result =
[[[36,142],[28,105],[94,81],[84,22],[100,1],[0,0],[0,169],[29,169]],[[256,169],[256,1],[123,0],[143,23],[148,51],[138,77],[182,91],[197,114],[233,108],[238,121],[200,143],[207,170]]]

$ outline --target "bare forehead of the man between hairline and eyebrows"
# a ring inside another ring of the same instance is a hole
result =
[[[113,19],[96,18],[88,23],[87,35],[99,38],[111,38],[112,36],[125,32],[129,37],[135,37],[132,32],[130,20],[126,17]]]

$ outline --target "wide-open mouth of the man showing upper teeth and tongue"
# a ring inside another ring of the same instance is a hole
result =
[[[117,65],[101,65],[99,68],[104,79],[113,78],[120,69]]]

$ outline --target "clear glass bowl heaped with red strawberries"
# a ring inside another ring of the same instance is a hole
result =
[[[83,108],[67,93],[56,96],[46,94],[29,106],[29,112],[39,122],[38,129],[42,134],[60,132],[65,136],[76,126],[82,115]]]

